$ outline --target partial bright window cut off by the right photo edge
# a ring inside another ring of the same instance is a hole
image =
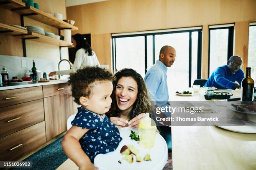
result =
[[[249,27],[249,47],[248,47],[248,67],[251,67],[251,77],[256,83],[256,23],[250,23]]]

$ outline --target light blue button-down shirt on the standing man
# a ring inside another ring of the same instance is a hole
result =
[[[145,82],[154,101],[168,101],[167,67],[159,60],[148,70]]]

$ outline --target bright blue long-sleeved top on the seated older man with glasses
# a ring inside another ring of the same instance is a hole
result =
[[[244,72],[240,68],[235,74],[232,74],[228,70],[228,65],[223,65],[212,72],[212,75],[205,83],[205,87],[233,89],[234,85],[236,85],[235,81],[237,81],[241,85],[243,78]]]

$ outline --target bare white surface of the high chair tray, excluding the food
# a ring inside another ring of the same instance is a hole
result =
[[[120,136],[123,140],[119,143],[118,148],[107,154],[99,154],[95,157],[94,165],[99,170],[162,170],[168,159],[168,149],[164,138],[156,133],[155,145],[151,149],[142,148],[139,142],[131,140],[129,135],[131,130],[138,133],[138,129],[121,128]],[[122,160],[125,155],[120,154],[120,150],[123,145],[133,145],[140,152],[142,158],[148,153],[151,160],[138,163],[136,162],[136,156],[133,155],[133,163],[128,163],[126,160]],[[121,164],[118,160],[122,160]]]

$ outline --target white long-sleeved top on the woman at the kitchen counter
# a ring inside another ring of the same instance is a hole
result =
[[[56,71],[56,75],[69,75],[70,73],[77,72],[78,69],[82,69],[87,66],[92,67],[96,65],[100,67],[100,62],[98,61],[95,52],[92,51],[92,55],[88,55],[88,52],[85,53],[84,48],[80,48],[76,52],[73,68],[70,70]]]

